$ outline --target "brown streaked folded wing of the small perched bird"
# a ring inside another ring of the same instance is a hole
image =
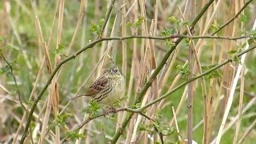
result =
[[[86,90],[86,93],[83,94],[85,96],[93,97],[95,94],[98,94],[103,89],[106,88],[108,83],[108,78],[105,76],[98,78],[90,87],[88,90]]]

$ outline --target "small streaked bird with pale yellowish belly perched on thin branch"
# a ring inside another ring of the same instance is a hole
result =
[[[118,66],[110,64],[90,87],[84,96],[94,98],[94,100],[105,106],[112,106],[125,93],[125,78],[118,70]]]

